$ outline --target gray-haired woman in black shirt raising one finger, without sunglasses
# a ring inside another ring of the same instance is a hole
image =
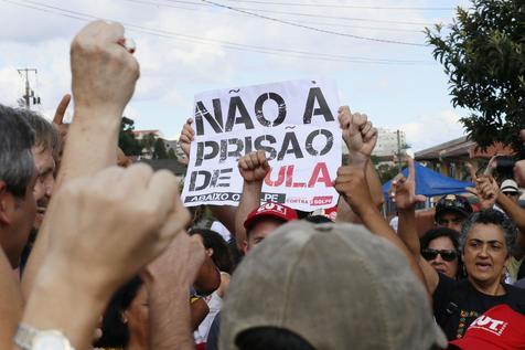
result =
[[[389,191],[399,213],[398,235],[419,263],[427,288],[432,295],[436,321],[447,338],[449,340],[463,338],[469,326],[478,317],[497,305],[507,305],[514,311],[525,315],[525,290],[502,283],[505,261],[516,241],[517,229],[514,223],[493,209],[471,214],[459,236],[459,251],[465,266],[467,278],[457,280],[437,273],[421,256],[415,204],[422,198],[415,193],[415,170],[411,159],[408,165],[408,178],[397,176]],[[481,193],[480,183],[476,188]]]

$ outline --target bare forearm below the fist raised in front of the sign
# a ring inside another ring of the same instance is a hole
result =
[[[244,182],[243,194],[240,195],[239,205],[235,214],[235,240],[239,250],[244,242],[247,241],[244,222],[248,214],[260,205],[260,192],[262,189],[262,181]]]

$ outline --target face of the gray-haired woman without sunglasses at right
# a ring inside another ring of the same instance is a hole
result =
[[[499,284],[507,255],[505,234],[501,226],[479,223],[469,231],[463,259],[469,278],[474,284]]]

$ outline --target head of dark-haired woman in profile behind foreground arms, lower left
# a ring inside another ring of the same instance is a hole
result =
[[[142,337],[147,340],[147,289],[140,277],[133,277],[120,287],[106,308],[101,325],[103,336],[95,342],[95,347],[125,348],[131,337]]]

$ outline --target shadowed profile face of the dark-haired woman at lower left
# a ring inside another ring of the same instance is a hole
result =
[[[129,309],[125,311],[130,332],[130,339],[137,339],[140,343],[148,343],[149,305],[148,291],[142,285],[137,293]]]

